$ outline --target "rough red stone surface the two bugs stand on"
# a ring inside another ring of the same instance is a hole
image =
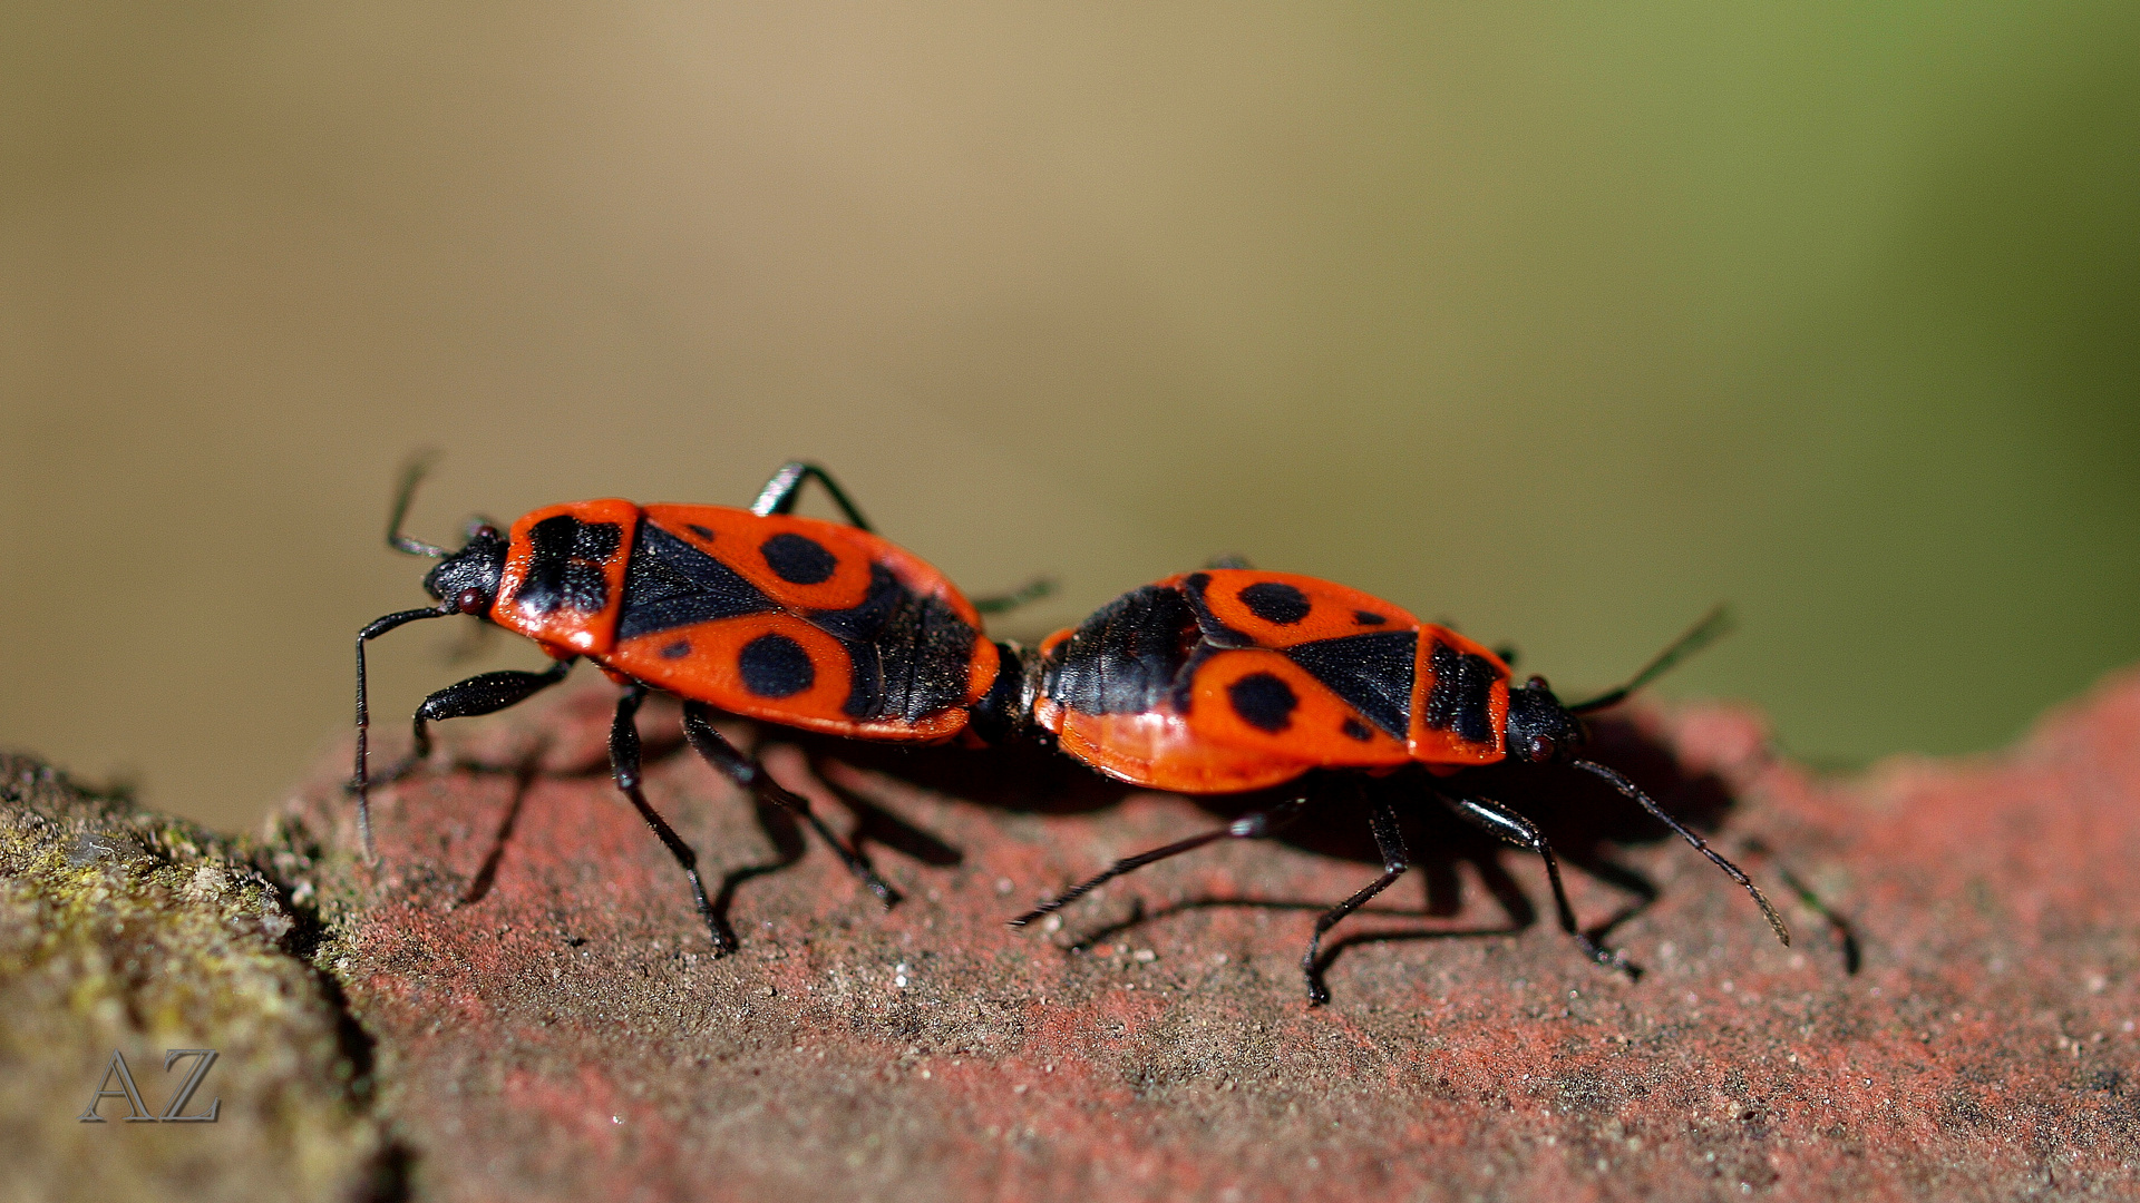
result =
[[[1793,948],[1607,790],[1507,773],[1481,788],[1599,869],[1571,871],[1586,923],[1633,901],[1607,878],[1656,886],[1609,935],[1639,980],[1554,931],[1537,858],[1417,805],[1421,867],[1338,929],[1325,1008],[1295,963],[1314,910],[1374,875],[1359,813],[1021,933],[1004,918],[1038,895],[1213,813],[1038,756],[785,732],[775,775],[862,822],[907,901],[886,914],[811,843],[734,888],[743,950],[717,959],[601,773],[610,696],[464,724],[462,756],[535,771],[383,790],[374,884],[332,852],[340,764],[291,809],[330,846],[321,897],[355,899],[325,957],[419,1197],[2140,1194],[2140,676],[2007,756],[1853,779],[1770,758],[1738,709],[1635,711],[1601,758],[1718,833]],[[655,805],[715,882],[775,861],[672,724],[642,719]],[[1855,974],[1785,873],[1853,929]]]

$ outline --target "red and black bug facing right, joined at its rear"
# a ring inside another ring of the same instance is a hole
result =
[[[1579,715],[1646,685],[1723,629],[1723,610],[1673,642],[1633,681],[1564,706],[1532,676],[1509,685],[1502,655],[1357,589],[1310,576],[1213,567],[1171,576],[1109,602],[1076,629],[1034,651],[997,644],[1004,672],[976,706],[974,730],[1051,738],[1085,764],[1151,790],[1230,794],[1282,786],[1316,771],[1314,786],[1233,824],[1117,861],[1049,903],[1010,920],[1023,927],[1094,886],[1218,839],[1254,839],[1295,822],[1335,783],[1419,764],[1427,790],[1466,822],[1545,861],[1560,927],[1599,963],[1618,959],[1577,925],[1554,850],[1534,822],[1457,788],[1464,768],[1569,764],[1603,777],[1714,861],[1791,942],[1776,908],[1736,865],[1667,816],[1620,773],[1577,758]],[[1449,781],[1449,786],[1442,786]],[[1316,920],[1301,957],[1312,1004],[1329,1000],[1318,976],[1323,935],[1410,867],[1391,803],[1376,796],[1372,831],[1382,875]]]

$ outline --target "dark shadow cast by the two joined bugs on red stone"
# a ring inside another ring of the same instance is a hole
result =
[[[683,751],[681,738],[663,738],[655,734],[670,724],[648,726],[655,728],[648,730],[644,747],[648,762],[666,760],[668,756]],[[910,786],[920,786],[972,805],[1010,813],[1096,813],[1121,803],[1130,794],[1141,792],[1074,764],[1046,747],[899,747],[813,736],[794,730],[775,732],[773,728],[766,728],[766,734],[768,738],[762,749],[770,749],[773,745],[792,745],[811,766],[815,786],[813,792],[817,796],[835,798],[847,811],[852,818],[847,839],[865,863],[873,848],[897,852],[899,856],[935,869],[957,867],[965,861],[965,854],[939,835],[901,818],[880,801],[828,781],[826,775],[817,771],[826,762],[843,762],[869,773],[882,773]],[[1629,777],[1641,781],[1669,813],[1699,831],[1718,831],[1725,826],[1725,820],[1736,807],[1736,798],[1721,777],[1686,768],[1673,756],[1669,745],[1646,734],[1626,719],[1611,715],[1592,719],[1590,749],[1601,762],[1611,764]],[[520,818],[526,788],[535,779],[533,764],[537,760],[539,749],[509,768],[516,777],[514,798],[499,822],[492,848],[488,850],[482,869],[477,869],[462,903],[475,903],[490,890],[496,878],[499,858],[511,841],[514,826]],[[456,764],[456,768],[475,768],[486,773],[501,771],[499,766],[477,764]],[[576,775],[595,777],[606,775],[606,766],[588,764]],[[1528,854],[1500,843],[1466,822],[1459,822],[1447,807],[1434,801],[1432,790],[1436,786],[1459,788],[1466,794],[1483,794],[1515,807],[1539,826],[1564,865],[1571,865],[1626,895],[1626,901],[1614,912],[1584,925],[1584,935],[1594,944],[1607,944],[1616,929],[1639,916],[1661,897],[1658,886],[1646,873],[1622,863],[1618,852],[1624,848],[1676,839],[1673,833],[1650,820],[1639,809],[1626,805],[1624,798],[1594,777],[1573,771],[1556,771],[1552,766],[1541,768],[1509,764],[1472,768],[1455,779],[1438,779],[1419,768],[1406,768],[1382,779],[1357,779],[1363,783],[1361,790],[1327,790],[1299,822],[1286,826],[1269,839],[1305,852],[1316,852],[1320,856],[1357,861],[1361,865],[1380,865],[1380,852],[1376,850],[1370,833],[1370,811],[1378,796],[1387,798],[1395,803],[1404,841],[1412,850],[1412,867],[1419,871],[1423,897],[1417,908],[1367,905],[1361,908],[1359,914],[1421,920],[1455,918],[1464,912],[1466,901],[1462,867],[1470,865],[1479,884],[1487,897],[1494,899],[1494,905],[1502,912],[1507,923],[1346,933],[1325,944],[1314,965],[1318,976],[1335,963],[1338,957],[1346,955],[1346,950],[1355,946],[1410,940],[1494,938],[1537,927],[1541,918],[1539,905],[1507,867],[1509,854]],[[1295,781],[1275,790],[1194,796],[1190,801],[1218,820],[1233,820],[1256,809],[1267,809],[1286,796],[1299,794],[1301,783]],[[802,828],[792,813],[760,801],[753,805],[753,818],[770,843],[773,856],[723,873],[719,888],[710,897],[713,912],[723,927],[728,927],[728,914],[736,890],[745,882],[783,871],[796,865],[807,852]],[[1793,875],[1772,848],[1751,841],[1746,850],[1770,861],[1772,871],[1783,880],[1783,884],[1798,895],[1808,910],[1823,916],[1830,935],[1843,955],[1845,970],[1855,974],[1860,953],[1858,938],[1849,920],[1821,903],[1806,882]],[[1331,901],[1333,899],[1194,897],[1153,910],[1147,910],[1143,903],[1132,903],[1132,912],[1126,918],[1091,927],[1064,948],[1068,953],[1083,953],[1149,923],[1160,923],[1177,914],[1198,910],[1258,908],[1273,912],[1320,914],[1329,910]],[[1616,968],[1631,978],[1641,978],[1644,974],[1641,965],[1626,961],[1624,957],[1616,961]]]

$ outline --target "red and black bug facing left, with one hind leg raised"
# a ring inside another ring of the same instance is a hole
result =
[[[394,501],[387,544],[432,557],[424,589],[437,606],[387,614],[357,631],[357,828],[374,858],[364,700],[364,644],[417,619],[473,614],[535,640],[548,672],[484,672],[439,689],[415,711],[415,747],[392,781],[430,756],[430,724],[503,711],[556,685],[588,659],[625,687],[610,728],[616,788],[631,798],[691,882],[691,899],[723,953],[734,938],[713,914],[691,848],[640,792],[636,715],[646,694],[683,698],[685,738],[708,764],[766,803],[802,818],[884,905],[899,895],[800,796],[783,790],[713,728],[715,711],[869,741],[944,741],[997,679],[997,649],[980,612],[1044,591],[969,602],[937,569],[875,533],[824,469],[790,462],[749,509],[636,505],[601,499],[550,505],[501,533],[471,524],[460,550],[402,535],[424,465]],[[845,527],[792,516],[815,479]]]

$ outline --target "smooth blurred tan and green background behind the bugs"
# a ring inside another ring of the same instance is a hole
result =
[[[0,743],[223,826],[415,447],[432,539],[817,458],[1012,636],[1245,552],[1579,694],[1731,599],[1661,691],[1821,764],[2140,659],[2129,2],[17,2],[0,109]]]

